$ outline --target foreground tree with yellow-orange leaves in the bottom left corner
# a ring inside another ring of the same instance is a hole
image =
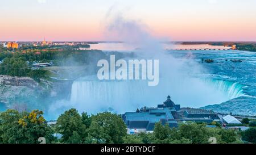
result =
[[[35,144],[39,137],[45,137],[47,143],[55,140],[52,129],[46,124],[43,112],[34,110],[19,113],[7,110],[0,115],[0,140],[6,144]]]

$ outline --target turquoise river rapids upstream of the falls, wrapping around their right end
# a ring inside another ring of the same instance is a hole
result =
[[[189,58],[201,62],[201,58],[213,59],[212,64],[203,63],[207,70],[199,76],[224,81],[222,87],[237,83],[235,87],[242,93],[241,97],[233,98],[224,103],[204,108],[218,112],[240,115],[256,115],[256,52],[247,51],[168,51],[176,58]],[[232,62],[230,60],[241,60]]]

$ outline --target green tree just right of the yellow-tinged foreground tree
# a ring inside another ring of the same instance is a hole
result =
[[[64,143],[68,143],[69,137],[71,136],[77,137],[77,134],[85,138],[85,130],[86,128],[82,123],[82,118],[74,108],[65,111],[64,114],[61,114],[57,119],[56,132],[62,135],[61,141]]]

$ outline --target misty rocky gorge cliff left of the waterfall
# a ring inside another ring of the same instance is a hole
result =
[[[58,99],[68,99],[72,81],[47,81],[40,83],[29,77],[11,77],[0,75],[0,103],[13,108],[17,104],[26,104],[28,108],[45,108]]]

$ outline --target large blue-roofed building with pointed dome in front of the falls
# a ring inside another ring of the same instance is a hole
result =
[[[177,127],[178,121],[186,122],[213,122],[220,121],[218,115],[213,111],[180,108],[179,104],[175,104],[171,97],[168,96],[163,104],[158,107],[144,107],[136,112],[126,112],[122,115],[123,121],[127,125],[127,133],[135,134],[140,132],[153,132],[155,123],[161,122],[163,125],[168,124],[169,127]]]

